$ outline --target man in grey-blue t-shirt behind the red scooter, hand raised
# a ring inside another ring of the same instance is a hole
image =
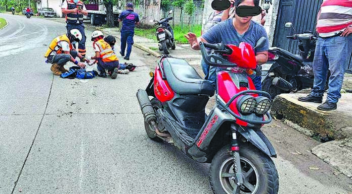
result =
[[[240,6],[259,6],[258,0],[236,0],[236,7]],[[252,17],[239,17],[231,18],[221,22],[203,34],[197,39],[193,33],[188,33],[186,38],[195,50],[199,50],[199,42],[208,43],[224,43],[239,45],[241,42],[247,42],[252,47],[255,46],[261,37],[266,37],[267,41],[260,47],[255,48],[255,57],[257,64],[263,64],[268,60],[269,41],[268,34],[265,29],[258,23],[251,21]],[[260,68],[257,68],[260,69]],[[221,68],[210,67],[209,78],[210,81],[216,80],[216,73],[221,71]],[[252,76],[252,80],[257,90],[261,90],[261,77],[260,70],[257,71],[257,76]]]

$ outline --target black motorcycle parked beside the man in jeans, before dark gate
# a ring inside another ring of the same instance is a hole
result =
[[[292,23],[286,23],[285,27],[291,28]],[[313,59],[317,36],[311,31],[305,31],[303,34],[294,34],[286,38],[299,41],[299,54],[272,47],[268,52],[268,62],[261,66],[261,88],[269,92],[272,98],[281,93],[313,88],[314,85]],[[327,80],[329,77],[330,71]],[[328,81],[325,89],[327,88]]]

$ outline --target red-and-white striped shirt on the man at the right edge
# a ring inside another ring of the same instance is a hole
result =
[[[324,0],[318,16],[317,32],[330,37],[352,25],[352,0]]]

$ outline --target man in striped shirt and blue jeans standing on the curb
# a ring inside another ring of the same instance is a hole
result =
[[[352,53],[352,0],[324,0],[317,20],[319,38],[313,61],[314,87],[299,101],[322,103],[328,70],[329,90],[319,110],[334,110],[341,98],[343,76]]]

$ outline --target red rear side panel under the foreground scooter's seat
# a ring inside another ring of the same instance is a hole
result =
[[[162,62],[160,65],[162,65]],[[160,102],[169,101],[175,95],[167,81],[163,79],[163,75],[159,66],[155,68],[154,94],[155,97],[160,100]]]

